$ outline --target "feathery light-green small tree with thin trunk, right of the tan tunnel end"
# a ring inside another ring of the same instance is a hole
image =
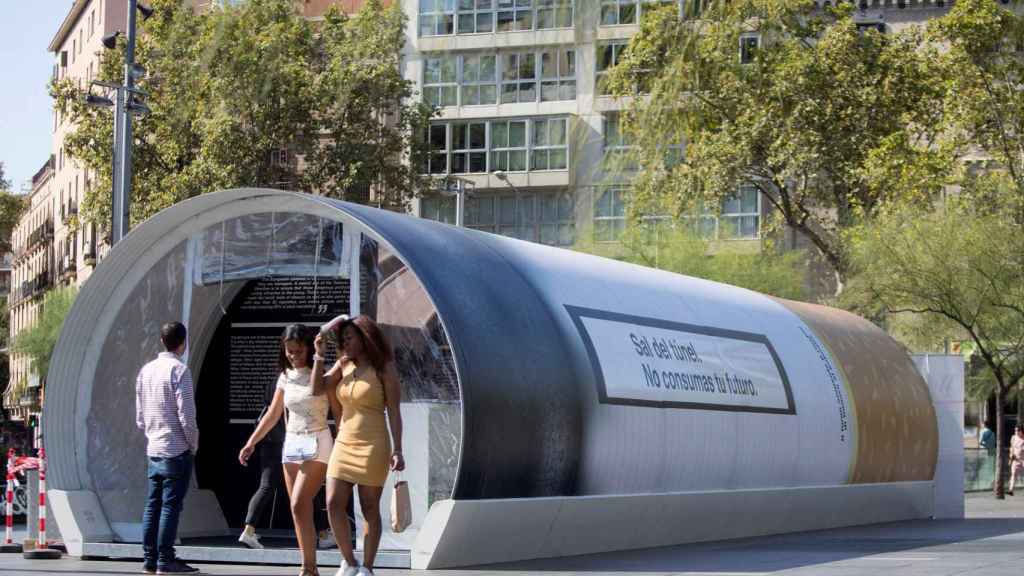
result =
[[[1009,182],[1007,182],[1009,183]],[[996,482],[1007,465],[1004,403],[1024,378],[1024,233],[1012,187],[966,189],[935,210],[896,206],[852,233],[847,306],[919,317],[974,342],[994,381]]]

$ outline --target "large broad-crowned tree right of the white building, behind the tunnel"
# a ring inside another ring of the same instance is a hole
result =
[[[752,183],[840,291],[843,231],[890,199],[939,193],[955,155],[941,138],[935,49],[920,30],[862,31],[837,4],[716,1],[699,17],[667,9],[641,23],[608,78],[630,98],[624,127],[645,166],[633,212],[678,217]],[[760,45],[741,54],[749,37]],[[685,142],[685,158],[666,162],[666,142]]]

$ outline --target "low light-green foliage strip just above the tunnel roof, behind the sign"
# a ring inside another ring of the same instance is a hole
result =
[[[745,242],[712,243],[675,223],[630,225],[618,246],[594,242],[588,235],[574,246],[582,252],[800,299],[804,254],[758,248],[752,250]]]

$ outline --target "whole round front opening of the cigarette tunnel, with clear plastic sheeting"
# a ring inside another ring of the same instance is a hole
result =
[[[387,528],[384,550],[409,550],[431,503],[451,498],[462,441],[461,394],[449,338],[414,272],[358,222],[302,211],[261,210],[210,217],[187,235],[169,237],[146,268],[137,265],[126,304],[112,320],[84,421],[97,503],[120,542],[141,539],[145,439],[135,426],[134,375],[160,349],[159,326],[188,328],[185,359],[196,382],[200,450],[194,489],[179,532],[234,541],[257,466],[238,453],[278,374],[284,326],[318,327],[340,314],[374,318],[395,353],[402,386],[402,448],[414,524]],[[329,354],[333,362],[333,351]],[[385,486],[387,513],[393,475]],[[358,510],[357,502],[355,509]],[[271,519],[272,518],[272,519]],[[356,512],[356,522],[361,522]],[[326,522],[324,523],[325,528]],[[385,523],[387,525],[387,523]],[[259,530],[281,531],[294,545],[284,487]],[[231,534],[234,536],[231,537]]]

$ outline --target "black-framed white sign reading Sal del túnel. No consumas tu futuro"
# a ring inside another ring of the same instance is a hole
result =
[[[604,404],[796,414],[764,334],[565,306]]]

